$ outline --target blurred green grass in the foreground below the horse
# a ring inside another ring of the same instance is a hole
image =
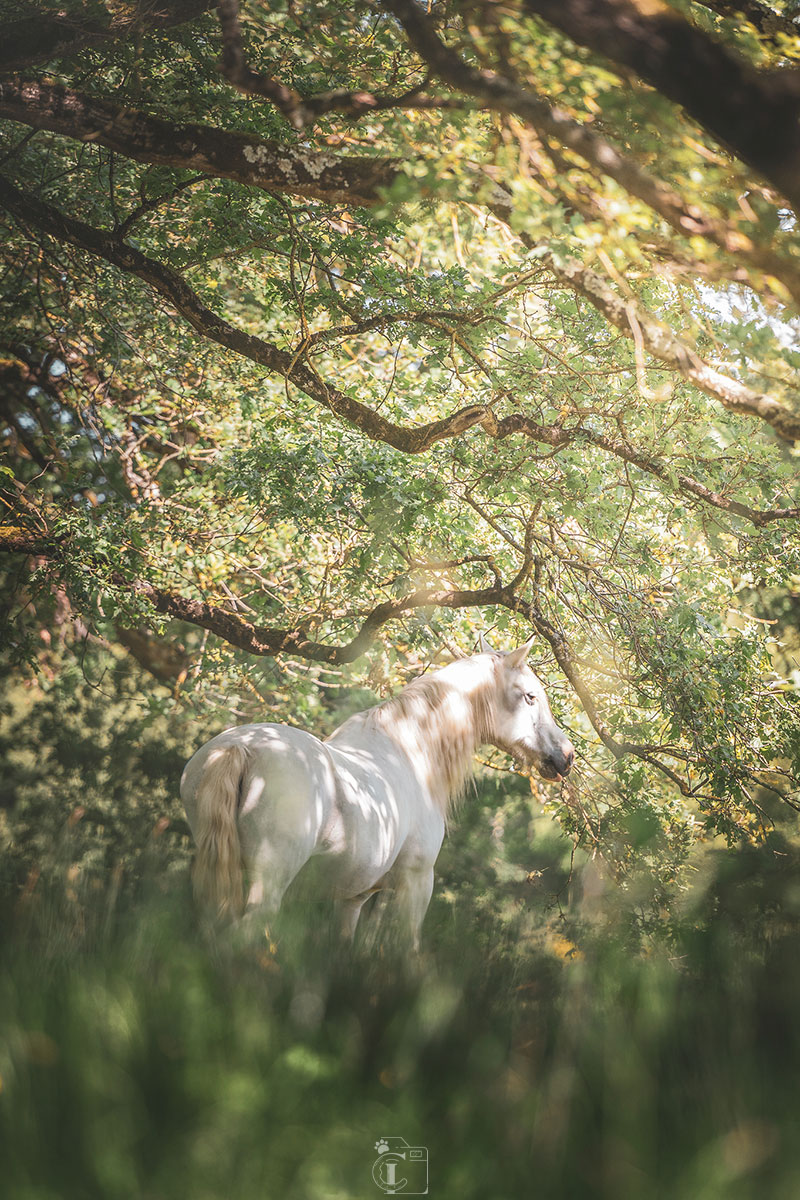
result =
[[[317,912],[275,954],[210,944],[149,853],[136,883],[65,865],[2,894],[2,1195],[373,1198],[383,1136],[447,1200],[800,1195],[781,835],[711,856],[669,950],[634,952],[613,895],[559,943],[440,887],[411,968]]]

